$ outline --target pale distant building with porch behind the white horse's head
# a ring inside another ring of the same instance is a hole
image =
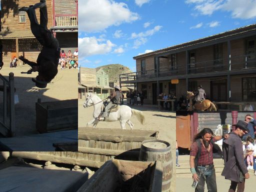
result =
[[[113,90],[108,86],[108,74],[102,68],[79,68],[79,82],[85,87],[85,92],[97,94],[101,99],[106,98]]]

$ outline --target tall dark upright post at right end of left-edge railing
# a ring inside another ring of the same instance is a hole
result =
[[[10,131],[15,136],[15,111],[14,111],[14,73],[9,73],[9,94],[10,94]]]

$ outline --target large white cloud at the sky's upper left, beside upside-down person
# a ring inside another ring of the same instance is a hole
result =
[[[79,31],[102,31],[111,25],[132,22],[139,15],[131,12],[127,4],[113,0],[79,0]]]

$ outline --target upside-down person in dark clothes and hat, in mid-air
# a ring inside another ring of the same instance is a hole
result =
[[[35,9],[40,8],[40,24],[35,15]],[[29,7],[22,7],[19,11],[26,11],[30,20],[30,28],[35,38],[42,45],[42,49],[37,57],[36,62],[32,62],[19,56],[19,59],[29,64],[31,71],[38,71],[36,78],[32,78],[35,85],[40,88],[45,88],[57,74],[57,66],[60,55],[60,48],[58,40],[54,38],[52,32],[47,29],[47,7],[45,0],[40,0],[39,3],[30,5]],[[31,73],[30,71],[30,73]]]

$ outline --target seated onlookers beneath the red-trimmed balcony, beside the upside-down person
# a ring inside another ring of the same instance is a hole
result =
[[[75,58],[75,59],[72,59]],[[60,69],[66,68],[66,65],[70,65],[71,68],[77,68],[78,67],[78,49],[75,49],[74,53],[71,53],[71,50],[68,50],[68,53],[66,54],[64,50],[61,50],[60,52],[60,58],[58,61],[58,64],[60,65]]]

